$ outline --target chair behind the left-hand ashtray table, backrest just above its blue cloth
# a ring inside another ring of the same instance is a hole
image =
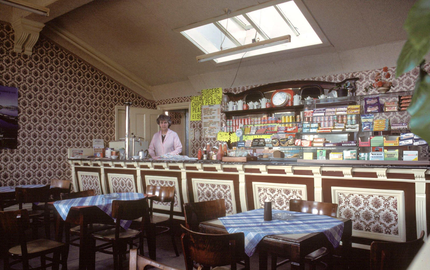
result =
[[[76,198],[83,198],[83,197],[89,197],[89,196],[95,196],[94,189],[88,189],[83,191],[77,191],[72,193],[62,193],[61,199],[67,200],[67,199],[76,199]],[[98,223],[92,223],[88,226],[88,233],[95,233],[101,230],[107,230],[111,229],[114,226],[107,225],[107,224],[98,224]],[[75,247],[79,247],[80,243],[78,242],[80,239],[80,226],[70,227],[70,223],[65,222],[64,223],[64,234],[65,234],[65,243],[66,243],[66,251],[64,252],[64,258],[62,258],[61,263],[64,265],[64,261],[67,261],[68,254],[69,254],[69,248],[70,245],[73,245]],[[70,236],[74,236],[73,239],[70,238]]]

